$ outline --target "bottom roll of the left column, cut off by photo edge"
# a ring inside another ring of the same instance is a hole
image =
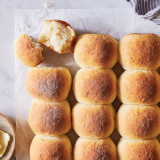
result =
[[[30,160],[72,160],[72,146],[67,136],[35,136],[30,146]]]

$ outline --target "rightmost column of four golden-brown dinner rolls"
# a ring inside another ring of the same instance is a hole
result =
[[[123,137],[118,143],[119,160],[158,160],[160,143],[160,38],[155,34],[129,34],[120,40],[119,62],[127,70],[117,84],[123,103],[116,127]]]

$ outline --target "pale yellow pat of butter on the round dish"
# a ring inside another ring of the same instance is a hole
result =
[[[10,140],[9,134],[0,130],[0,157],[5,153]]]

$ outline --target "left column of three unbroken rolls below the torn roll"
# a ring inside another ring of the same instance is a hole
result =
[[[71,128],[71,109],[67,100],[71,74],[63,67],[31,68],[26,88],[34,98],[28,123],[36,134],[30,147],[31,160],[72,160],[70,140],[63,134]]]

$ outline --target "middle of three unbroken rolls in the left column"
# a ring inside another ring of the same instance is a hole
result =
[[[70,112],[67,101],[35,101],[29,111],[28,123],[35,134],[59,136],[71,128]]]

